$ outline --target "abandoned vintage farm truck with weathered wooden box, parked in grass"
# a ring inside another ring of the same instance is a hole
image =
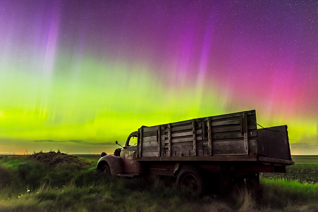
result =
[[[176,177],[179,188],[203,195],[258,184],[259,172],[285,173],[292,164],[287,126],[257,129],[250,110],[142,126],[114,155],[102,153],[97,168],[123,177]]]

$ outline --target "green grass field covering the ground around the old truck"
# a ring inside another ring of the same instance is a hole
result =
[[[261,173],[258,190],[199,199],[156,177],[101,176],[99,155],[49,154],[0,155],[0,211],[318,211],[317,156]]]

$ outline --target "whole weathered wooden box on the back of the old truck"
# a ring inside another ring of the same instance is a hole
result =
[[[287,126],[257,129],[255,110],[141,127],[137,143],[138,161],[293,164]]]

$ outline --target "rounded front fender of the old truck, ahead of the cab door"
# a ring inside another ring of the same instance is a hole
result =
[[[108,164],[110,174],[114,176],[116,176],[116,174],[123,174],[123,162],[120,157],[114,155],[105,155],[101,157],[97,163],[97,169],[102,168],[105,164]]]

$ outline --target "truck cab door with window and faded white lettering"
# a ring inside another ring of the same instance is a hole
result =
[[[121,151],[121,158],[124,161],[125,173],[137,173],[137,132],[131,133],[126,141],[125,149]]]

